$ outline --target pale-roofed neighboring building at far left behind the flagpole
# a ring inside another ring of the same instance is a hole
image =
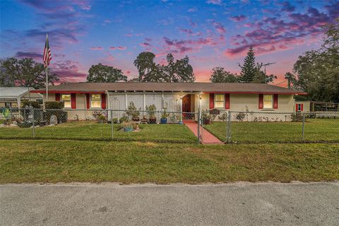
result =
[[[30,93],[33,88],[27,87],[0,87],[0,108],[18,108],[22,107],[23,100],[32,100],[42,103],[40,93]]]

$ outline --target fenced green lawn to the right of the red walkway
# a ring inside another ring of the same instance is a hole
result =
[[[208,131],[226,141],[226,123],[213,122]],[[271,143],[302,141],[302,122],[233,122],[232,141]],[[339,119],[307,119],[304,141],[339,141]]]

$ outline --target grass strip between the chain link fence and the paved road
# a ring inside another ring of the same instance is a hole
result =
[[[339,179],[338,156],[339,143],[196,145],[2,139],[0,183],[333,181]]]

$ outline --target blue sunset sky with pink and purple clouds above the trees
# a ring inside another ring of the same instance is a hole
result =
[[[297,57],[321,45],[322,26],[339,17],[339,1],[0,1],[1,59],[32,57],[42,63],[46,33],[51,68],[61,81],[85,81],[102,63],[137,76],[143,51],[165,63],[186,55],[196,80],[215,66],[239,73],[250,45],[266,71],[292,71]],[[281,85],[287,85],[282,83]]]

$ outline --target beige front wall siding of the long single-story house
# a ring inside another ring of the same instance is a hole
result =
[[[198,93],[109,93],[107,95],[107,109],[126,109],[129,102],[133,101],[137,109],[144,110],[146,105],[155,105],[157,111],[162,110],[162,97],[164,104],[167,105],[167,112],[178,112],[180,109],[180,95],[191,95],[191,112],[198,112],[199,97]],[[45,95],[44,95],[45,97]],[[55,101],[55,94],[49,94],[49,101]],[[259,109],[258,108],[258,94],[230,94],[230,109],[220,108],[223,111],[231,112],[249,112],[249,117],[246,120],[253,121],[256,118],[267,116],[269,112],[284,112],[290,113],[295,111],[295,101],[293,95],[278,95],[278,109]],[[86,108],[86,95],[76,94],[76,109]],[[307,107],[304,105],[304,109]],[[201,100],[201,109],[210,109],[210,94],[204,93]],[[100,109],[97,109],[100,110]],[[69,119],[94,119],[93,109],[85,111],[67,111],[69,112]],[[256,112],[256,113],[254,113]],[[232,114],[232,121],[236,121],[236,114]],[[118,113],[117,113],[118,115]],[[120,114],[119,114],[120,115]],[[270,115],[270,121],[285,121],[290,118],[290,114],[277,114],[277,116]],[[115,115],[114,115],[115,116]],[[218,117],[216,117],[218,120]]]

